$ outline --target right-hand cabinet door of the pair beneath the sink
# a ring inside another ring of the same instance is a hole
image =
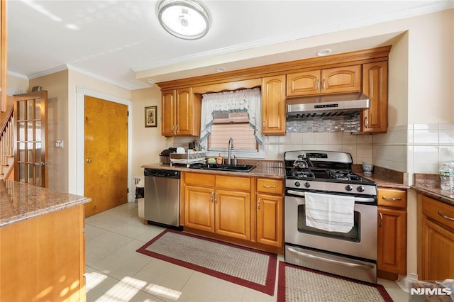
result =
[[[250,194],[216,189],[216,233],[250,240]]]

